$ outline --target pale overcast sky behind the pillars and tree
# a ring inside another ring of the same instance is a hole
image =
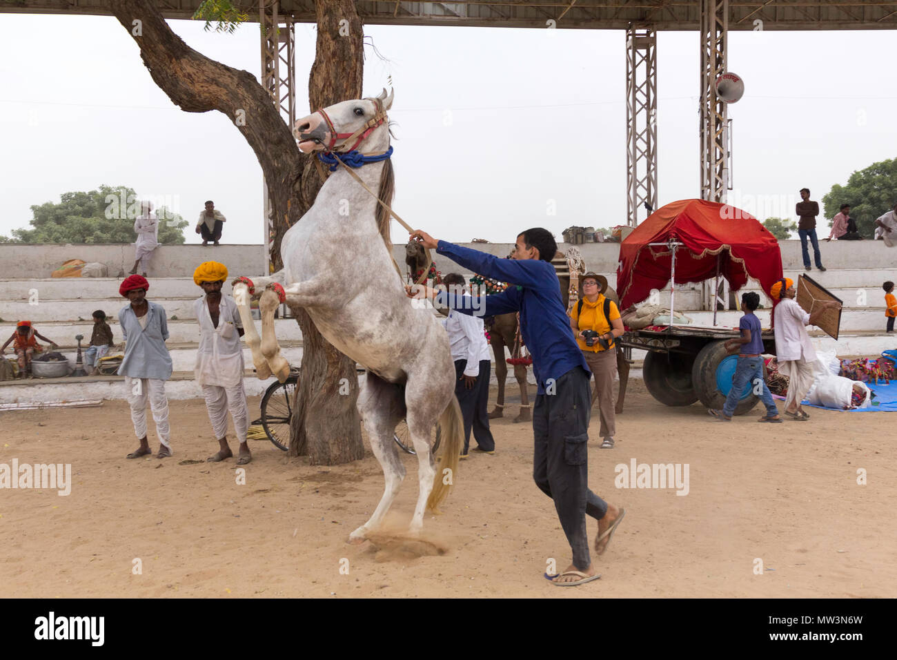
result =
[[[256,23],[231,35],[170,23],[192,48],[258,77]],[[394,207],[410,224],[455,242],[513,242],[534,225],[560,240],[572,224],[626,223],[623,31],[365,33],[388,58],[365,49],[365,94],[390,75],[395,84]],[[314,26],[298,26],[296,42],[301,116]],[[894,44],[893,31],[730,32],[728,68],[745,79],[729,114],[730,202],[792,217],[798,189],[821,200],[897,156]],[[700,194],[698,45],[695,32],[658,38],[661,205]],[[223,242],[263,242],[255,154],[223,115],[172,104],[114,19],[0,13],[0,82],[0,234],[27,227],[32,204],[109,184],[168,198],[191,224],[212,198],[228,218]],[[395,223],[393,238],[405,238]]]

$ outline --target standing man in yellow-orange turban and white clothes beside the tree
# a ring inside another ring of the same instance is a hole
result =
[[[227,413],[230,409],[233,428],[239,442],[238,465],[252,460],[246,433],[249,411],[243,389],[243,324],[237,304],[230,295],[222,295],[227,268],[217,261],[201,263],[193,273],[193,281],[202,286],[205,295],[193,304],[199,321],[199,349],[196,351],[196,382],[203,388],[205,407],[212,420],[212,430],[220,446],[218,453],[206,459],[219,462],[231,458],[227,444]]]

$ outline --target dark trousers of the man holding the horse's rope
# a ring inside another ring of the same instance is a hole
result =
[[[554,508],[570,548],[573,564],[588,568],[586,514],[605,517],[607,503],[588,489],[588,419],[591,414],[589,375],[581,366],[547,383],[533,409],[533,478],[554,500]],[[553,392],[553,393],[551,393]]]

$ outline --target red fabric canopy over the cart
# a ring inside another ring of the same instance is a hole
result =
[[[717,255],[719,274],[733,291],[753,277],[769,296],[782,277],[779,242],[755,217],[718,202],[683,199],[658,208],[620,244],[617,292],[623,309],[669,283],[672,252],[649,243],[671,239],[684,244],[675,253],[675,284],[715,277]]]

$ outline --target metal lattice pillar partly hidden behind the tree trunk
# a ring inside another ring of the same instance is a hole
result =
[[[281,16],[278,0],[260,0],[258,22],[261,25],[262,42],[262,86],[271,95],[274,106],[292,130],[296,122],[296,41],[292,16]],[[265,198],[265,253],[268,272],[273,272],[271,242],[274,239],[274,216],[272,215],[268,187],[262,181]]]

